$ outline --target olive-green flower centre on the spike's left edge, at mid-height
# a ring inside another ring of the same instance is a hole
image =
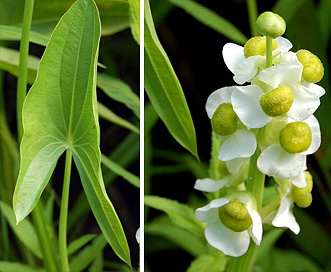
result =
[[[227,136],[237,130],[238,117],[231,103],[218,106],[211,118],[212,129],[220,136]]]

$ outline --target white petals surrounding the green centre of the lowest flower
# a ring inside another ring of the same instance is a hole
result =
[[[219,208],[231,201],[240,201],[247,209],[252,219],[251,226],[244,231],[233,231],[222,223]],[[198,220],[206,222],[205,236],[210,245],[221,250],[224,254],[238,257],[248,249],[250,237],[259,245],[262,239],[262,221],[256,211],[255,199],[248,193],[239,192],[226,198],[211,201],[208,205],[196,210]]]

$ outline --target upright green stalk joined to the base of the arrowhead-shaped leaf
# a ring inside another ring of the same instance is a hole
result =
[[[69,206],[69,188],[70,188],[70,175],[71,175],[72,153],[68,148],[66,152],[66,162],[64,169],[61,211],[59,221],[59,254],[61,271],[67,272],[69,269],[68,252],[67,252],[67,218]]]

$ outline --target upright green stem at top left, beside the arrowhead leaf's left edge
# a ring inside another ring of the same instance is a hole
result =
[[[32,22],[34,0],[26,0],[24,6],[24,15],[22,23],[22,37],[20,43],[20,64],[18,67],[18,81],[17,81],[17,98],[16,98],[16,114],[17,114],[17,131],[18,140],[21,142],[23,136],[22,124],[22,108],[26,95],[27,85],[27,67],[29,56],[29,35]]]

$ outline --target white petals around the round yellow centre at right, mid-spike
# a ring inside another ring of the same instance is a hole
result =
[[[289,120],[293,122],[293,120]],[[321,144],[321,132],[317,119],[311,116],[304,120],[311,132],[312,140],[307,150],[300,153],[289,153],[279,143],[272,144],[262,151],[258,160],[259,170],[279,179],[294,178],[306,169],[306,156],[317,151]]]

